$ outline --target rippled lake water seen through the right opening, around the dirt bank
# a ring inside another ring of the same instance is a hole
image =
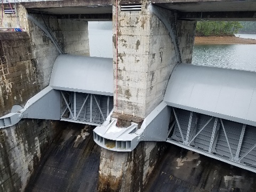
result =
[[[237,34],[255,38],[255,34]],[[195,45],[192,63],[240,70],[256,71],[256,45]]]

